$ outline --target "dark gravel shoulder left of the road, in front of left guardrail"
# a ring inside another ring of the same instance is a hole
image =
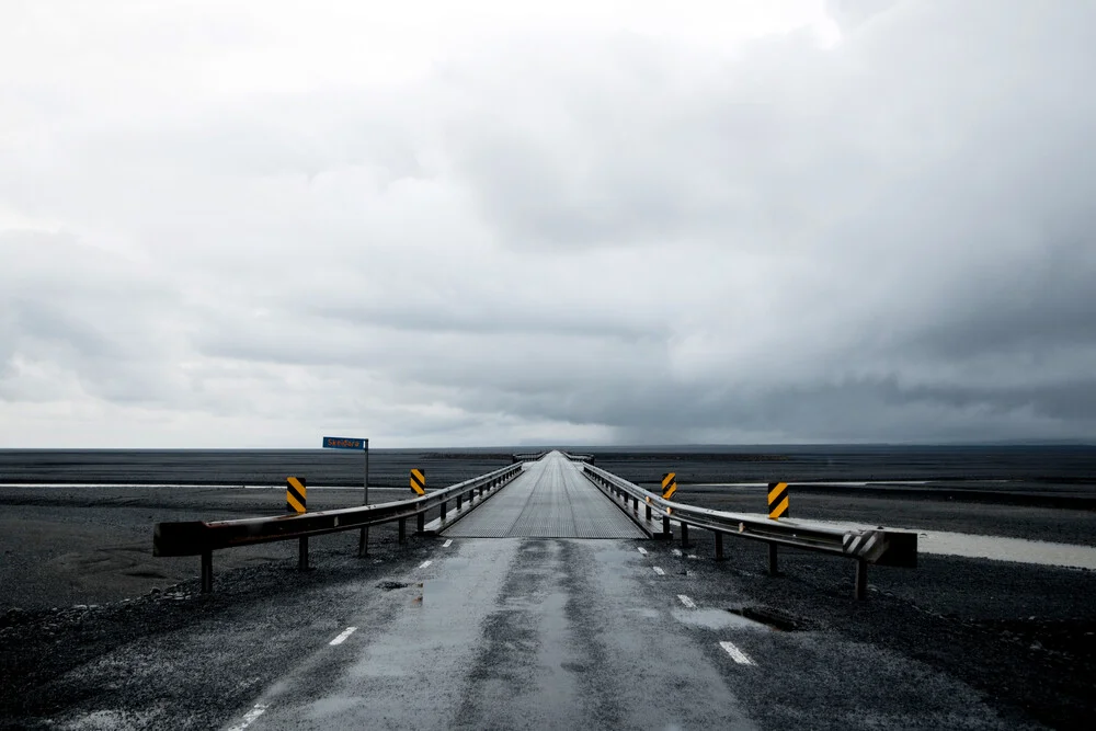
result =
[[[313,550],[313,569],[264,562],[102,605],[0,615],[0,729],[217,728],[342,629],[323,610],[435,546],[412,536]],[[319,637],[319,641],[317,640]]]

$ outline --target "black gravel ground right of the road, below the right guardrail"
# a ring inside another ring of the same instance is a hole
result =
[[[772,578],[764,544],[726,539],[728,560],[716,562],[711,534],[689,537],[693,547],[681,557],[652,544],[667,555],[660,561],[701,582],[733,582],[750,606],[795,617],[806,629],[959,678],[1009,728],[1091,728],[1096,572],[923,555],[914,570],[870,568],[868,601],[857,602],[852,561],[781,549],[781,575]]]

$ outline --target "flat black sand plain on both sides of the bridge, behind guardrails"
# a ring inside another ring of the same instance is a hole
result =
[[[429,488],[448,486],[511,464],[516,449],[373,450],[370,502],[409,496],[408,470],[426,471]],[[663,471],[678,475],[677,499],[733,512],[765,511],[764,488],[698,482],[949,479],[992,481],[996,494],[1068,491],[1096,507],[1096,449],[798,447],[662,452],[595,450],[596,464],[653,487]],[[196,575],[196,558],[155,558],[152,526],[284,513],[285,476],[306,477],[309,510],[362,502],[362,453],[301,450],[0,450],[0,610],[111,602],[163,589]],[[1009,481],[1002,481],[1002,480]],[[22,488],[32,483],[185,483],[265,486],[187,488]],[[985,483],[979,482],[984,487]],[[318,489],[345,486],[345,489]],[[870,489],[826,494],[792,490],[791,514],[878,525],[1096,545],[1096,510],[1061,510],[971,500],[911,500]],[[381,535],[384,528],[374,528]],[[317,541],[331,540],[320,537]],[[293,544],[218,551],[215,570],[270,560],[292,561]]]

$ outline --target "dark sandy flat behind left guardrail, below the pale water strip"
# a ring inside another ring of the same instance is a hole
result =
[[[370,499],[402,499],[410,490],[372,490]],[[361,490],[312,490],[315,510],[359,504]],[[0,612],[103,604],[164,590],[197,575],[197,557],[152,556],[152,527],[162,521],[228,519],[283,515],[283,490],[239,488],[44,489],[0,487]],[[436,517],[431,511],[427,519]],[[376,526],[385,540],[395,526]],[[313,538],[311,547],[336,541]],[[355,533],[356,536],[356,533]],[[270,561],[296,561],[292,541],[214,553],[215,576]],[[356,544],[355,544],[356,551]]]

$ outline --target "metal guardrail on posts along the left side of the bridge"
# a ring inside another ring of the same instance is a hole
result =
[[[511,465],[493,472],[466,480],[425,495],[398,500],[376,505],[342,507],[338,510],[279,515],[276,517],[250,517],[235,521],[186,521],[157,523],[152,532],[153,556],[201,556],[202,592],[213,591],[213,551],[236,546],[251,546],[275,540],[300,541],[298,568],[308,568],[308,538],[339,530],[352,530],[365,526],[399,522],[399,540],[407,540],[407,521],[416,518],[418,532],[423,533],[427,511],[439,509],[444,522],[450,501],[456,501],[459,511],[467,499],[469,509],[477,498],[486,500],[491,491],[521,475],[522,465]]]

